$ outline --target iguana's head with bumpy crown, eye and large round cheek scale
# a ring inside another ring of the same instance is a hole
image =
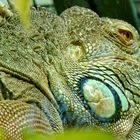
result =
[[[124,21],[100,18],[79,7],[61,17],[69,36],[56,85],[64,85],[56,91],[64,122],[140,138],[138,32]]]

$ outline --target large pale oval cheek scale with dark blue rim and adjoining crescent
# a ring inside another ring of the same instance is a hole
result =
[[[81,88],[94,118],[101,123],[116,121],[120,112],[128,109],[123,92],[109,81],[87,78],[82,80]]]

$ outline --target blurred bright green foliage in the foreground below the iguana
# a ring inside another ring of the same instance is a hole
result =
[[[24,136],[24,140],[117,140],[116,137],[109,133],[89,129],[86,131],[68,130],[64,134],[52,136],[26,132]]]

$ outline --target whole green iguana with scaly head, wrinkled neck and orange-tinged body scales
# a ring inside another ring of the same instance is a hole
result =
[[[32,28],[1,10],[0,128],[63,133],[95,127],[140,139],[139,34],[130,24],[72,7],[60,16],[32,8]]]

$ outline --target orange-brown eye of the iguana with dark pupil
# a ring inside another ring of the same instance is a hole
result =
[[[118,38],[125,45],[131,45],[133,43],[133,34],[125,29],[118,29]]]

